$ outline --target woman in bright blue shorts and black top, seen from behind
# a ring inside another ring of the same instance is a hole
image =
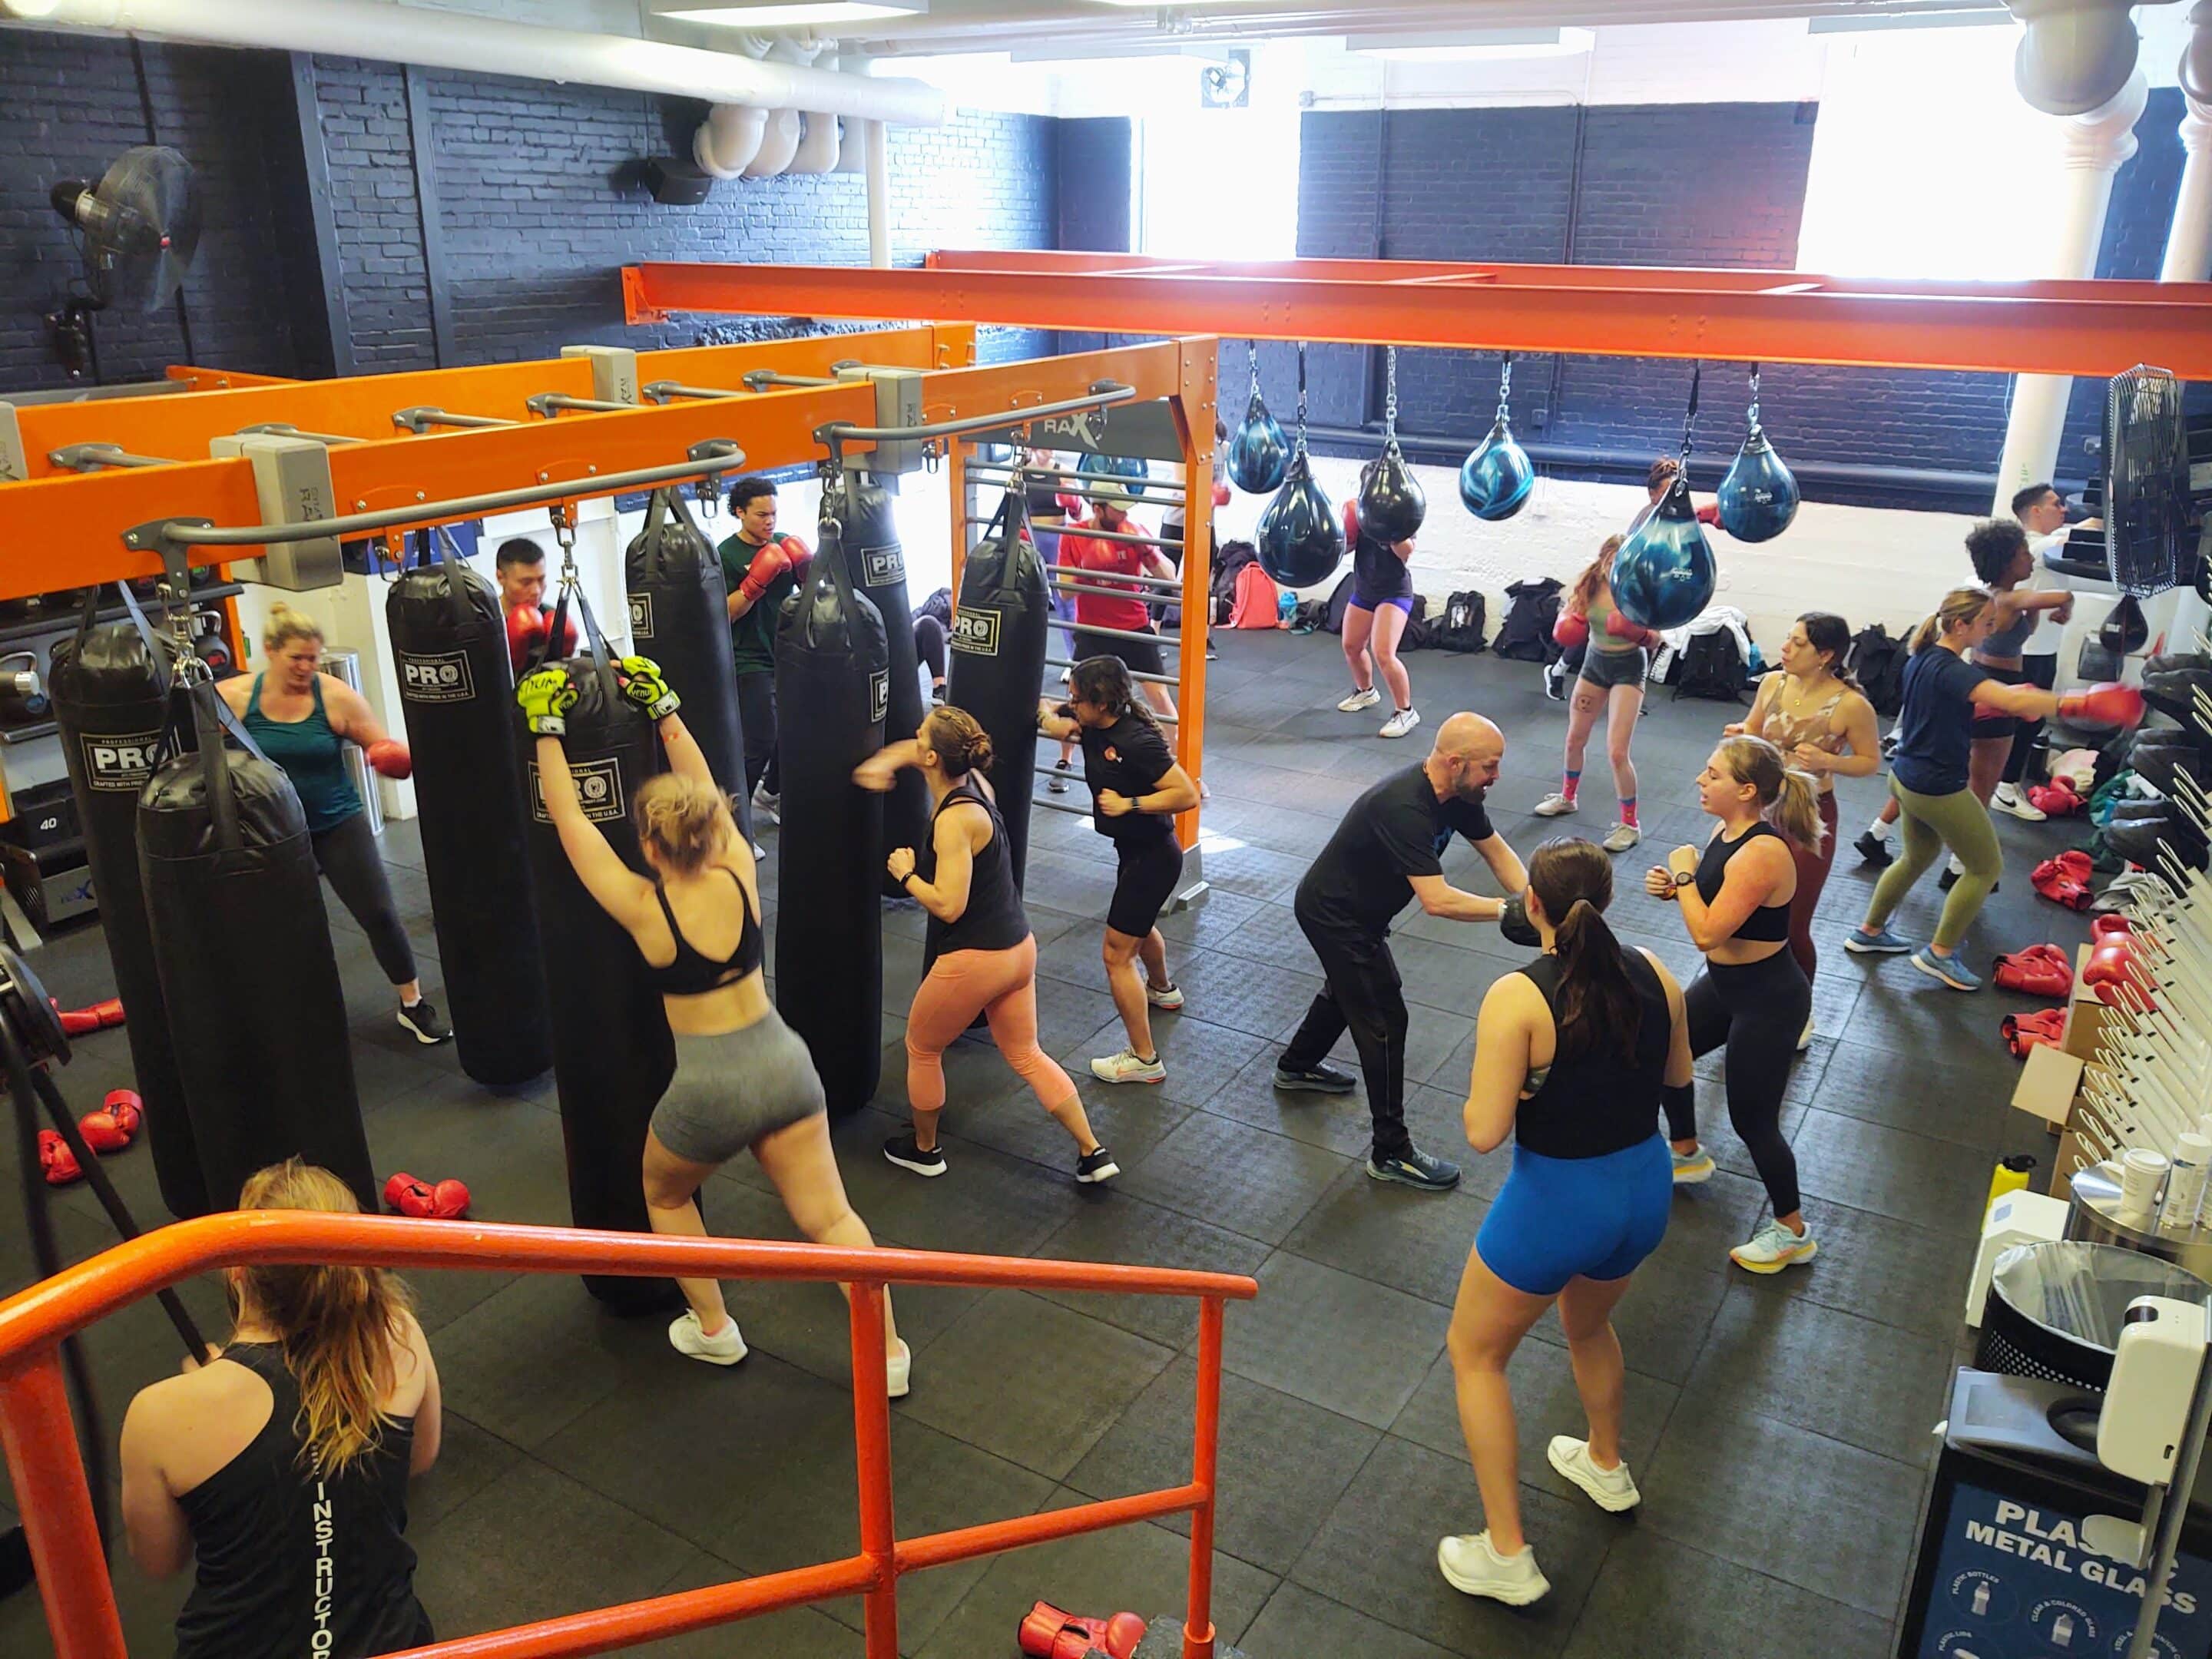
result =
[[[1588,1438],[1555,1436],[1551,1467],[1599,1509],[1639,1502],[1621,1462],[1626,1367],[1613,1307],[1666,1234],[1674,1181],[1659,1110],[1692,1088],[1681,987],[1657,956],[1621,949],[1606,927],[1606,854],[1588,841],[1546,841],[1528,860],[1524,902],[1544,953],[1482,998],[1464,1106],[1478,1152],[1513,1137],[1513,1172],[1467,1256],[1449,1338],[1489,1524],[1436,1546],[1455,1590],[1511,1606],[1551,1584],[1522,1533],[1506,1365],[1553,1303]]]

